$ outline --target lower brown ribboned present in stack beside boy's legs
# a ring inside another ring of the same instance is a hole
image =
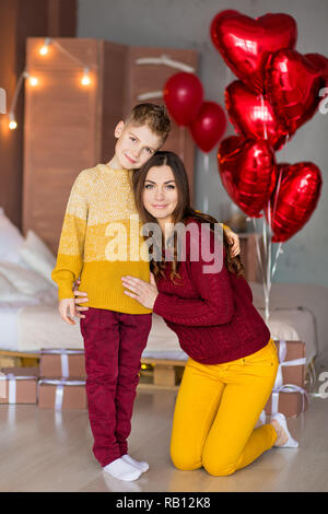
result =
[[[40,409],[86,409],[85,381],[40,378],[37,397]]]

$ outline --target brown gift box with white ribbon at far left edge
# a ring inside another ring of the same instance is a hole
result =
[[[0,404],[36,404],[38,367],[2,367]]]

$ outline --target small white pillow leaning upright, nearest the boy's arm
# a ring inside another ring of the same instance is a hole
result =
[[[20,248],[20,256],[31,269],[42,274],[54,287],[51,271],[56,266],[56,258],[45,243],[32,230],[27,231],[26,238]]]

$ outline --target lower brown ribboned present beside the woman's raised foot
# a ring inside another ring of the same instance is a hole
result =
[[[303,387],[295,384],[283,384],[272,389],[265,407],[265,413],[270,416],[281,412],[286,418],[294,418],[307,409],[308,401],[308,394]]]

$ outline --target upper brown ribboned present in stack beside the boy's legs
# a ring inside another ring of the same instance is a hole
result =
[[[40,376],[46,378],[85,378],[84,351],[54,348],[40,351]]]

